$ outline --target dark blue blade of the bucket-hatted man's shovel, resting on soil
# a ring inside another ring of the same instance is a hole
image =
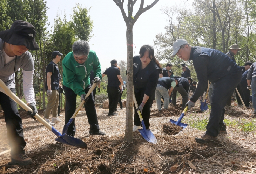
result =
[[[78,138],[69,136],[66,133],[56,138],[55,141],[79,148],[87,148],[87,144],[85,142]]]

